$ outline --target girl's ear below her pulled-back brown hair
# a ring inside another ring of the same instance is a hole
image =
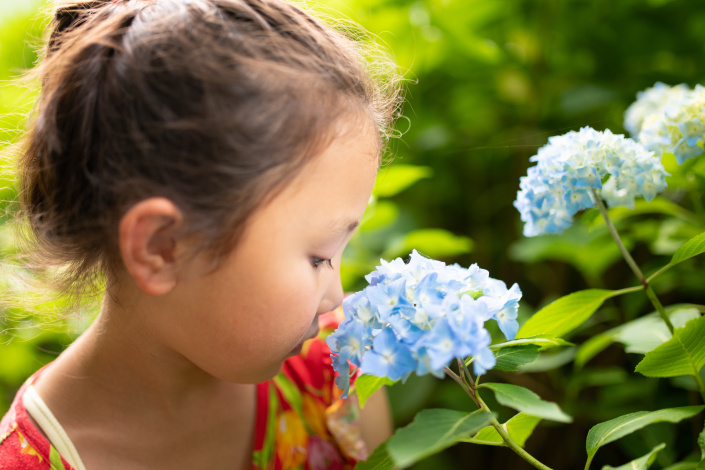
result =
[[[163,295],[177,283],[177,231],[183,215],[169,199],[153,197],[120,219],[120,254],[127,271],[148,294]]]

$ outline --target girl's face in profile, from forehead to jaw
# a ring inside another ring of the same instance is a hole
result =
[[[169,346],[224,380],[257,383],[276,375],[317,334],[317,315],[342,301],[341,255],[377,167],[371,130],[338,137],[307,163],[255,211],[216,271],[167,294],[173,311],[160,329]]]

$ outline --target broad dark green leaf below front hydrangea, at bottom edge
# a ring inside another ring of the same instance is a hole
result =
[[[398,429],[387,443],[387,452],[397,468],[406,468],[419,460],[452,446],[487,426],[490,413],[431,409],[422,410],[408,426]]]

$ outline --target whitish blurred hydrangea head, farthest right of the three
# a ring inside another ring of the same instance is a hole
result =
[[[658,156],[672,153],[678,164],[705,152],[705,87],[687,91],[680,87],[671,89],[666,102],[644,116],[638,136],[647,150]]]

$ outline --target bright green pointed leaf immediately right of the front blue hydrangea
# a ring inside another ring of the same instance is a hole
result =
[[[582,325],[602,303],[624,291],[588,289],[554,301],[536,312],[519,329],[517,338],[534,335],[564,336]]]

